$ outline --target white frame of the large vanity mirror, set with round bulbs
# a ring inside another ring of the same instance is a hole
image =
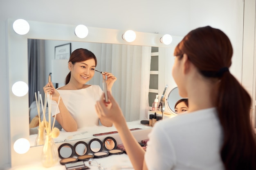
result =
[[[164,48],[174,48],[181,40],[179,36],[172,36],[173,41],[170,45],[164,45],[160,42],[161,34],[136,32],[135,41],[128,43],[122,39],[126,30],[116,30],[108,28],[89,27],[87,37],[80,39],[76,37],[74,30],[76,25],[56,24],[46,22],[28,21],[30,30],[26,35],[18,35],[13,30],[14,19],[7,20],[7,54],[8,54],[8,72],[9,72],[9,126],[10,126],[10,155],[11,166],[24,164],[20,159],[21,155],[13,149],[14,142],[19,138],[29,139],[29,102],[28,93],[25,96],[15,96],[12,91],[12,85],[17,81],[24,81],[28,84],[28,63],[27,63],[27,39],[52,39],[63,41],[81,41],[110,44],[126,44],[138,46],[155,46]],[[27,130],[24,130],[27,129]],[[37,146],[41,148],[40,146]],[[39,148],[32,147],[28,153],[22,157],[33,158]],[[35,159],[35,158],[34,158]]]

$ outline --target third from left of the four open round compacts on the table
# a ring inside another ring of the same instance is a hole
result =
[[[90,140],[89,147],[93,153],[94,158],[102,158],[102,157],[107,157],[109,155],[108,152],[102,151],[103,144],[100,139],[94,138]]]

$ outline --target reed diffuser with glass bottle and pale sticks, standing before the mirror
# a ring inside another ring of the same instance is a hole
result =
[[[58,137],[60,131],[58,128],[54,127],[54,123],[56,120],[56,116],[54,116],[54,121],[51,126],[51,108],[52,108],[52,96],[47,94],[45,98],[45,105],[43,105],[42,96],[40,95],[40,101],[43,108],[43,121],[41,122],[45,128],[45,143],[43,146],[43,152],[41,157],[41,162],[44,167],[48,168],[54,166],[58,162],[58,149],[54,143],[55,137]],[[58,104],[60,101],[60,97],[58,98]],[[46,105],[48,104],[48,122],[45,118]],[[58,107],[57,104],[57,107]]]

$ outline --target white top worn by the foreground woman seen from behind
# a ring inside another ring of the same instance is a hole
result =
[[[157,122],[148,136],[148,170],[225,169],[220,158],[222,128],[216,108]]]

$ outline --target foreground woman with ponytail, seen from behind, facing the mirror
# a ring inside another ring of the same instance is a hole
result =
[[[97,101],[112,121],[136,170],[255,170],[251,98],[229,72],[233,54],[225,33],[210,26],[189,32],[175,48],[172,75],[188,113],[155,124],[146,153],[130,133],[117,102]],[[135,152],[136,150],[136,152]]]

